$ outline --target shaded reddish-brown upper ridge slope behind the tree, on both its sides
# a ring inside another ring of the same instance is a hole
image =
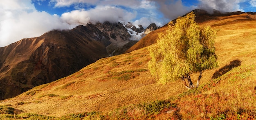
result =
[[[230,22],[235,21],[243,21],[243,20],[255,20],[255,13],[252,12],[232,12],[232,13],[220,13],[219,11],[214,11],[213,14],[207,13],[207,11],[201,10],[201,9],[195,9],[193,10],[195,13],[195,21],[199,24],[202,24],[204,26],[216,26],[219,24],[229,24]],[[175,20],[173,20],[175,22]],[[214,23],[218,22],[218,23]],[[133,50],[138,50],[139,48],[143,48],[146,46],[150,46],[151,44],[154,44],[157,42],[157,34],[159,32],[165,33],[167,30],[167,25],[162,26],[162,29],[158,29],[157,31],[153,31],[143,37],[140,41],[138,41],[134,46],[126,50],[124,53],[131,52]]]

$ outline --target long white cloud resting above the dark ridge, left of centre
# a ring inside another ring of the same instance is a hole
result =
[[[61,19],[68,24],[87,24],[97,22],[118,22],[130,21],[136,17],[136,13],[128,12],[124,9],[111,6],[97,6],[88,11],[75,10],[68,13],[63,13]]]

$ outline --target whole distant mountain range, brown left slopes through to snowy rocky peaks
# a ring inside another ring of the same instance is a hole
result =
[[[146,33],[131,23],[80,25],[53,30],[40,37],[21,39],[0,48],[0,99],[11,98],[37,85],[56,81],[101,59],[119,55]]]

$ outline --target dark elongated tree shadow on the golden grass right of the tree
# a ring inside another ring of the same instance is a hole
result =
[[[229,65],[225,65],[224,67],[220,68],[218,71],[216,71],[213,76],[211,77],[211,79],[216,79],[219,76],[222,76],[223,74],[229,72],[230,70],[232,70],[233,68],[236,68],[238,66],[240,66],[242,63],[242,61],[240,61],[239,59],[236,59],[234,61],[231,61],[229,63]]]

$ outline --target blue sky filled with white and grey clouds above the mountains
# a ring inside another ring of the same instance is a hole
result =
[[[193,9],[256,12],[256,0],[0,0],[0,47],[80,24],[163,26]]]

